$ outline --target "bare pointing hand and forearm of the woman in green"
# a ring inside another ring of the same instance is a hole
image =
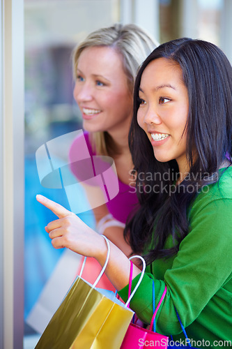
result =
[[[102,266],[105,264],[107,245],[101,235],[89,228],[78,216],[56,202],[42,195],[37,195],[36,199],[59,217],[45,227],[52,239],[54,248],[67,247],[81,255],[95,258]],[[121,290],[128,284],[130,261],[121,249],[112,242],[110,242],[110,247],[111,253],[105,274],[116,290]],[[141,270],[134,266],[133,278],[140,272]]]

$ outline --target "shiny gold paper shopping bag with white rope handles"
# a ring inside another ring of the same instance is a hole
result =
[[[109,241],[104,235],[102,237],[107,242],[108,253],[98,279],[91,285],[77,277],[40,337],[36,349],[120,348],[134,312],[116,297],[109,299],[95,288],[105,272],[110,253]],[[139,283],[142,276],[143,273]]]

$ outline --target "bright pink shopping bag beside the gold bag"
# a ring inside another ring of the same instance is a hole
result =
[[[137,255],[133,256],[132,258],[140,258],[141,260],[143,260],[141,256],[137,256]],[[143,260],[143,263],[144,262],[145,261]],[[132,270],[130,272],[130,275],[132,275]],[[131,281],[131,278],[130,278],[130,281]],[[154,283],[153,283],[153,287],[154,287]],[[155,321],[155,315],[157,314],[157,311],[164,300],[166,292],[167,292],[167,287],[165,286],[160,302],[157,304],[157,308],[153,313],[153,318],[150,322],[149,329],[145,329],[135,323],[130,322],[130,325],[123,339],[121,349],[140,349],[140,348],[154,348],[154,347],[167,349],[167,343],[169,341],[169,338],[167,336],[164,336],[163,334],[158,334],[152,331],[153,323]],[[130,285],[129,285],[128,297],[130,299]],[[155,304],[154,292],[153,292],[153,304]]]

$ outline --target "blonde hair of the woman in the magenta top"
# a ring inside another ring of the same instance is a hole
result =
[[[141,63],[159,43],[136,24],[114,24],[111,27],[98,29],[89,34],[72,52],[73,75],[77,77],[77,64],[80,54],[87,47],[113,47],[121,54],[123,68],[127,75],[128,89],[133,92],[134,79]],[[93,149],[99,155],[112,155],[117,151],[107,131],[91,133]]]

